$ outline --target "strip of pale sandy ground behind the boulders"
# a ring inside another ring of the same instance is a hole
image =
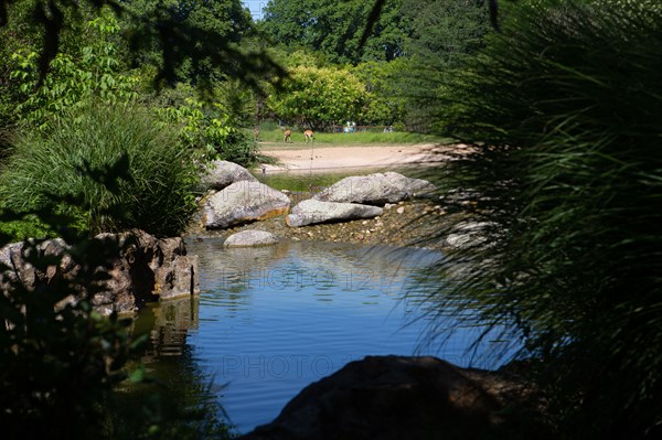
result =
[[[412,146],[346,146],[323,147],[319,144],[263,151],[279,161],[278,165],[265,164],[266,173],[284,171],[325,172],[342,169],[397,168],[412,164],[433,164],[452,160],[451,153],[467,152],[463,144],[412,144]]]

